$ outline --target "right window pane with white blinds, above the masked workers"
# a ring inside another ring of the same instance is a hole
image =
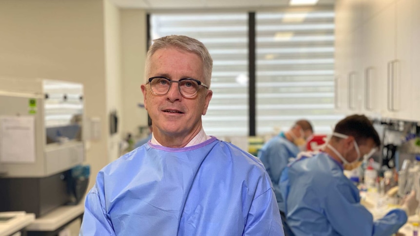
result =
[[[308,119],[329,133],[334,112],[334,9],[256,13],[257,134]]]

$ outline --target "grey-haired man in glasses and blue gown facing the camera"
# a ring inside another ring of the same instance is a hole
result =
[[[198,40],[154,40],[141,86],[152,140],[98,173],[80,235],[283,235],[263,164],[204,132],[211,70]]]

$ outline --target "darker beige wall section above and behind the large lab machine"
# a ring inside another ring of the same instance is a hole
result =
[[[86,151],[90,187],[108,163],[104,47],[102,0],[0,1],[0,76],[83,83],[86,115],[101,120]]]

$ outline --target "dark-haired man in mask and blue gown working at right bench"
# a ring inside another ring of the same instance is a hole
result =
[[[322,152],[283,170],[279,185],[284,202],[279,206],[295,236],[390,236],[414,214],[418,202],[412,193],[402,209],[373,221],[360,204],[358,188],[343,174],[380,144],[371,122],[351,115],[338,122]]]

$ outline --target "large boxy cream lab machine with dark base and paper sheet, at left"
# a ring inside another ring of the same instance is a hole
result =
[[[0,78],[0,211],[37,217],[69,201],[66,171],[84,161],[83,85]]]

